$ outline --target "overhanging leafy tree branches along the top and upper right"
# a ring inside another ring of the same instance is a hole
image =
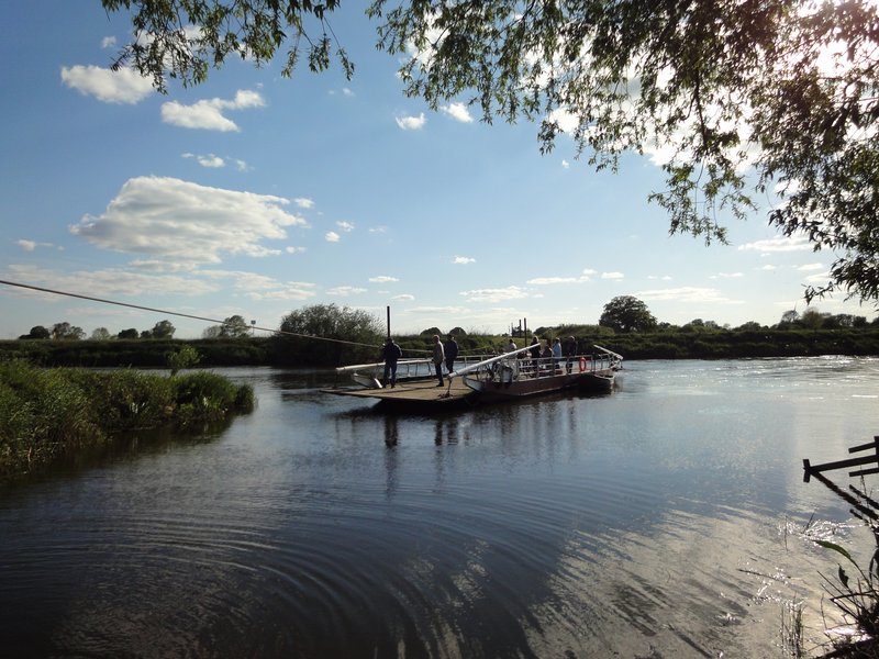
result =
[[[127,10],[119,56],[152,76],[201,82],[235,54],[257,65],[307,44],[325,69],[337,0],[102,0]],[[879,303],[879,7],[871,0],[372,0],[378,46],[399,56],[410,97],[482,118],[539,122],[547,152],[569,134],[598,169],[625,152],[668,153],[650,196],[671,233],[726,242],[722,212],[750,214],[831,249],[832,290]],[[187,30],[197,25],[197,31]],[[309,34],[311,26],[316,29]],[[289,44],[289,46],[288,46]]]

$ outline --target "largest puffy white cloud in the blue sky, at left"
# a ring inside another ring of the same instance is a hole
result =
[[[287,237],[286,226],[308,226],[282,210],[280,197],[209,188],[175,178],[129,179],[99,216],[85,215],[70,233],[115,252],[190,263],[220,255],[280,254],[260,243]]]

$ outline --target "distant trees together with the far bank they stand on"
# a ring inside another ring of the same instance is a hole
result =
[[[21,337],[48,340],[0,342],[0,359],[20,357],[44,366],[166,367],[168,354],[186,344],[194,350],[193,362],[205,367],[333,367],[379,361],[386,330],[379,319],[365,311],[314,304],[290,312],[270,337],[254,337],[251,332],[243,316],[233,315],[205,330],[200,339],[174,339],[174,325],[160,321],[152,330],[131,328],[115,336],[99,327],[91,340],[81,340],[81,328],[57,323],[51,330],[34,327]],[[492,354],[507,346],[502,335],[468,333],[460,326],[448,332],[432,326],[419,334],[394,336],[405,357],[424,357],[435,334],[454,335],[461,354],[467,355]],[[597,325],[543,326],[525,334],[525,338],[533,335],[546,340],[572,336],[581,351],[599,344],[627,359],[879,355],[879,320],[868,322],[865,316],[808,309],[803,313],[785,312],[772,326],[748,322],[730,327],[702,319],[679,326],[657,322],[647,305],[631,295],[605,304]],[[147,338],[151,340],[144,340]],[[520,338],[516,336],[516,340]]]

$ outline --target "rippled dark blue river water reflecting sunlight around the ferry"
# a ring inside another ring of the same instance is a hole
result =
[[[4,656],[781,657],[792,606],[806,650],[834,624],[812,540],[874,548],[802,459],[879,434],[879,359],[633,361],[442,416],[219,372],[253,414],[0,491]]]

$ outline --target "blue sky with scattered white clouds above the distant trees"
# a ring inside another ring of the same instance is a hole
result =
[[[351,80],[337,65],[290,79],[282,57],[233,58],[162,94],[110,70],[130,38],[124,14],[11,3],[0,279],[267,330],[329,303],[383,326],[390,306],[398,334],[597,324],[617,295],[659,322],[771,325],[826,281],[833,254],[780,236],[769,199],[726,222],[727,246],[669,235],[647,201],[663,189],[649,156],[596,172],[568,137],[542,155],[535,124],[485,123],[467,97],[431,111],[403,94],[401,60],[375,48],[359,9],[331,22]],[[876,315],[842,297],[813,308]],[[7,284],[0,310],[0,338],[59,322],[115,335],[170,320],[179,338],[211,326]]]

